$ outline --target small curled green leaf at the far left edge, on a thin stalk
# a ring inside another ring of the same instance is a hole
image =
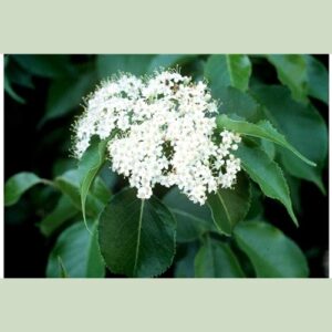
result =
[[[22,172],[9,178],[4,185],[4,206],[14,205],[31,187],[43,183],[33,173]]]

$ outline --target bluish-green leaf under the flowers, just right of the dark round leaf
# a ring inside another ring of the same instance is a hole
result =
[[[194,204],[178,188],[172,188],[163,199],[177,221],[176,240],[189,242],[204,232],[216,230],[209,208]]]

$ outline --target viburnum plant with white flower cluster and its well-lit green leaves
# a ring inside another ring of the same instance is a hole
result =
[[[253,81],[249,91],[246,55],[211,55],[195,77],[176,68],[102,81],[72,127],[77,167],[6,185],[8,206],[39,183],[63,193],[40,222],[50,236],[72,220],[46,274],[156,277],[173,266],[175,277],[308,277],[304,255],[264,220],[261,201],[279,200],[299,226],[287,178],[324,190],[326,129],[309,100],[325,101],[324,74],[309,55],[267,59],[286,87]],[[297,136],[304,125],[313,137]],[[111,194],[105,177],[122,185]]]

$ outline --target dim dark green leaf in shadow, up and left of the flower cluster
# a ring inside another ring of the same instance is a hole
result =
[[[63,116],[77,107],[83,96],[93,89],[94,83],[94,72],[81,74],[79,77],[54,80],[48,94],[46,112],[40,124],[42,125],[51,118]]]

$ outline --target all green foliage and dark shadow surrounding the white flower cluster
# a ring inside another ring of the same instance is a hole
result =
[[[6,55],[6,277],[326,276],[326,62],[290,54]],[[235,190],[219,190],[204,207],[157,188],[135,220],[124,203],[135,216],[143,207],[104,164],[102,144],[79,167],[69,157],[70,126],[100,80],[160,66],[209,81],[224,114],[218,126],[245,137],[245,172]],[[144,250],[135,257],[123,243],[141,222]]]

